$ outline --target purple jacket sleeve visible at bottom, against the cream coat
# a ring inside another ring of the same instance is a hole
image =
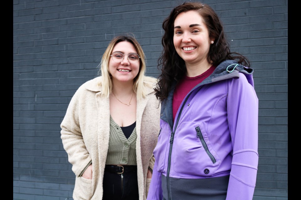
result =
[[[148,190],[147,200],[161,200],[162,187],[161,187],[161,174],[157,171],[156,161],[153,168],[153,174],[151,176],[150,188]]]

